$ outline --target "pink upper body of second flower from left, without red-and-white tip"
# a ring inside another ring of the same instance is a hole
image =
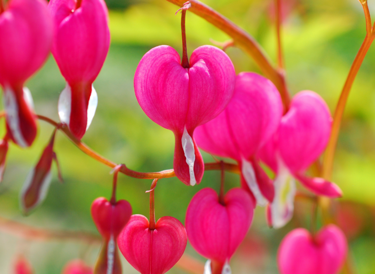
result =
[[[55,29],[51,51],[71,86],[91,87],[110,45],[108,9],[103,0],[83,0],[80,8],[75,6],[74,0],[49,2]]]

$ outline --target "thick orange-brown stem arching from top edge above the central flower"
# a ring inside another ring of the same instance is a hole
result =
[[[179,7],[181,7],[185,2],[185,0],[167,1]],[[255,41],[255,39],[245,30],[241,29],[232,21],[228,20],[228,18],[214,11],[207,5],[204,5],[198,0],[190,0],[189,2],[191,4],[189,11],[202,17],[209,23],[216,26],[218,29],[231,36],[231,38],[233,38],[234,45],[242,48],[242,50],[244,50],[254,59],[255,63],[257,63],[264,75],[269,78],[278,88],[285,106],[285,110],[287,110],[290,104],[290,96],[285,83],[284,74],[283,72],[274,68],[257,41]]]

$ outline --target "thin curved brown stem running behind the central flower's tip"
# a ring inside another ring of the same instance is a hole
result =
[[[47,123],[50,123],[51,125],[58,127],[63,133],[68,137],[69,140],[71,140],[74,145],[77,146],[81,151],[83,151],[85,154],[89,155],[91,158],[105,164],[106,166],[109,166],[111,168],[114,168],[117,166],[116,163],[108,160],[107,158],[104,158],[100,154],[96,153],[93,151],[91,148],[89,148],[85,143],[81,142],[77,138],[74,137],[74,135],[69,131],[68,126],[66,125],[59,125],[59,123],[55,122],[52,119],[49,119],[48,117],[42,116],[42,115],[37,115],[38,119],[43,120]],[[223,164],[224,169],[228,172],[233,172],[233,173],[240,173],[239,167],[235,164],[229,164],[229,163],[224,163]],[[204,164],[204,169],[205,170],[221,170],[221,164],[220,163],[205,163]],[[176,176],[174,174],[173,169],[167,169],[167,170],[162,170],[160,172],[137,172],[131,169],[128,169],[124,164],[121,165],[121,168],[119,169],[119,172],[133,177],[137,179],[161,179],[161,178],[171,178]]]

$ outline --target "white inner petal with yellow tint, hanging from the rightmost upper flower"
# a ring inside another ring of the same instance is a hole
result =
[[[279,161],[278,175],[273,183],[275,198],[271,204],[272,226],[285,226],[293,217],[294,196],[296,195],[296,181],[287,167]]]

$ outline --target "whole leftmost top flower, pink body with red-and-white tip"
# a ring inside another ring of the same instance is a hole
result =
[[[25,81],[40,68],[52,42],[52,23],[44,0],[10,0],[0,12],[0,84],[10,139],[30,146],[37,124]]]

